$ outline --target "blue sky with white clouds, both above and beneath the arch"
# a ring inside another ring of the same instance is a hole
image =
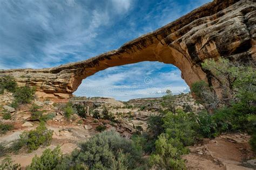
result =
[[[209,0],[0,0],[0,69],[46,68],[120,47]],[[87,77],[75,95],[129,100],[187,91],[160,62],[113,67]]]

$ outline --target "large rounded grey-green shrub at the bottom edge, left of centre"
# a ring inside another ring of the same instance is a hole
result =
[[[89,169],[134,169],[143,166],[142,152],[115,131],[98,133],[72,153],[72,160]]]

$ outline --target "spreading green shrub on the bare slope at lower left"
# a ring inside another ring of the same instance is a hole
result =
[[[52,130],[48,130],[44,122],[41,122],[35,130],[29,132],[24,131],[20,135],[20,139],[16,140],[12,144],[12,150],[18,151],[22,147],[26,146],[29,152],[37,150],[39,146],[48,146],[52,140]]]

